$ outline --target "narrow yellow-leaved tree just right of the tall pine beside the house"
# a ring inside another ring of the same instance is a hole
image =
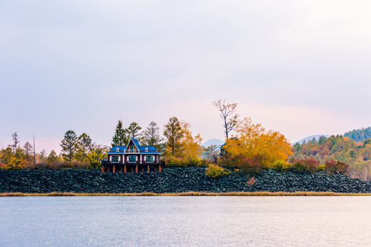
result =
[[[201,154],[203,152],[203,148],[201,147],[202,138],[200,134],[193,137],[190,131],[190,124],[185,121],[181,121],[181,130],[183,132],[181,139],[181,158],[189,165],[197,165],[201,160]]]

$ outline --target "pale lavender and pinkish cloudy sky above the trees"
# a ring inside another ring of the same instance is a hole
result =
[[[109,145],[170,117],[223,137],[237,103],[289,141],[371,126],[370,1],[0,1],[0,148]]]

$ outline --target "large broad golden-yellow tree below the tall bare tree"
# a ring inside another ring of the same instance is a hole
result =
[[[225,150],[229,165],[241,168],[244,164],[271,168],[274,161],[285,161],[292,154],[283,134],[252,124],[247,117],[236,127],[236,137],[227,140]]]

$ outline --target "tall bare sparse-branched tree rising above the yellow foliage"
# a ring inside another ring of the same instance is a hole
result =
[[[221,112],[221,118],[223,119],[223,128],[225,137],[228,139],[228,134],[238,124],[238,114],[236,113],[237,103],[227,104],[225,103],[225,99],[218,99],[212,102],[216,108]]]

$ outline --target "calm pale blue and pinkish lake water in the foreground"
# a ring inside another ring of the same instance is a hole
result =
[[[0,246],[371,246],[371,197],[0,198]]]

